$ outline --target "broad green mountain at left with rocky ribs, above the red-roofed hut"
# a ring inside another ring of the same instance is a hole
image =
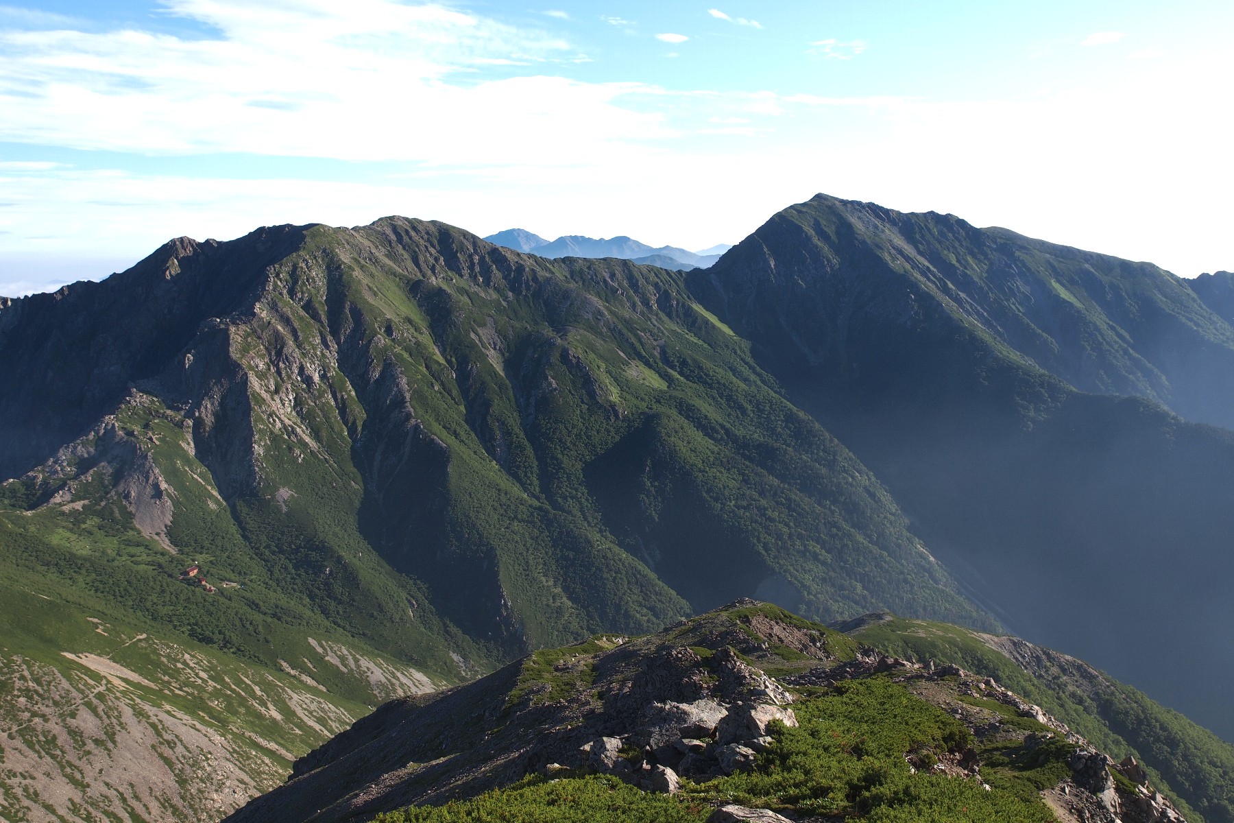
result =
[[[14,301],[0,560],[348,712],[742,595],[995,628],[681,278],[387,218]]]

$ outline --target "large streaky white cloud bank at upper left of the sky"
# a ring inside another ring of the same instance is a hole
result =
[[[660,115],[619,104],[637,84],[484,79],[589,59],[544,32],[396,0],[167,1],[222,33],[0,32],[0,141],[482,165],[665,134]]]

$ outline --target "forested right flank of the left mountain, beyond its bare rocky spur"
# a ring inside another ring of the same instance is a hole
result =
[[[326,318],[364,408],[365,537],[473,635],[647,631],[780,576],[817,616],[877,600],[982,619],[677,275],[391,220],[315,230],[279,278],[271,320]]]

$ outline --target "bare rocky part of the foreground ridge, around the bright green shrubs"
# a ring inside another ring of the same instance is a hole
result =
[[[785,733],[803,728],[797,709],[816,723],[812,701],[843,698],[855,684],[902,689],[906,700],[929,705],[919,711],[942,709],[959,722],[942,743],[917,742],[901,753],[900,769],[911,775],[967,781],[991,796],[1023,788],[1017,780],[1032,776],[1039,802],[1029,806],[1065,822],[1185,819],[1134,758],[1114,763],[991,677],[888,656],[742,600],[654,635],[596,637],[434,697],[386,703],[296,761],[284,786],[227,821],[371,819],[586,775],[689,798],[700,819],[713,823],[864,817],[860,804],[821,817],[808,798],[775,809],[724,802],[734,796],[726,779],[774,770],[785,756],[792,745]],[[886,723],[896,722],[888,709]],[[1043,774],[1051,777],[1043,782]]]

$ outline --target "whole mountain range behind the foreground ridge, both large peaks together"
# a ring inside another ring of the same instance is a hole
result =
[[[1222,730],[1234,434],[1161,405],[1220,411],[1219,299],[1017,237],[821,197],[679,273],[389,217],[178,238],[9,301],[0,582],[88,631],[0,663],[112,682],[81,670],[114,651],[94,618],[342,701],[273,758],[228,738],[220,769],[265,764],[243,791],[402,677],[750,595],[1011,626]],[[1196,352],[1207,395],[1175,363]],[[158,664],[125,660],[158,686],[136,706],[183,711]]]

